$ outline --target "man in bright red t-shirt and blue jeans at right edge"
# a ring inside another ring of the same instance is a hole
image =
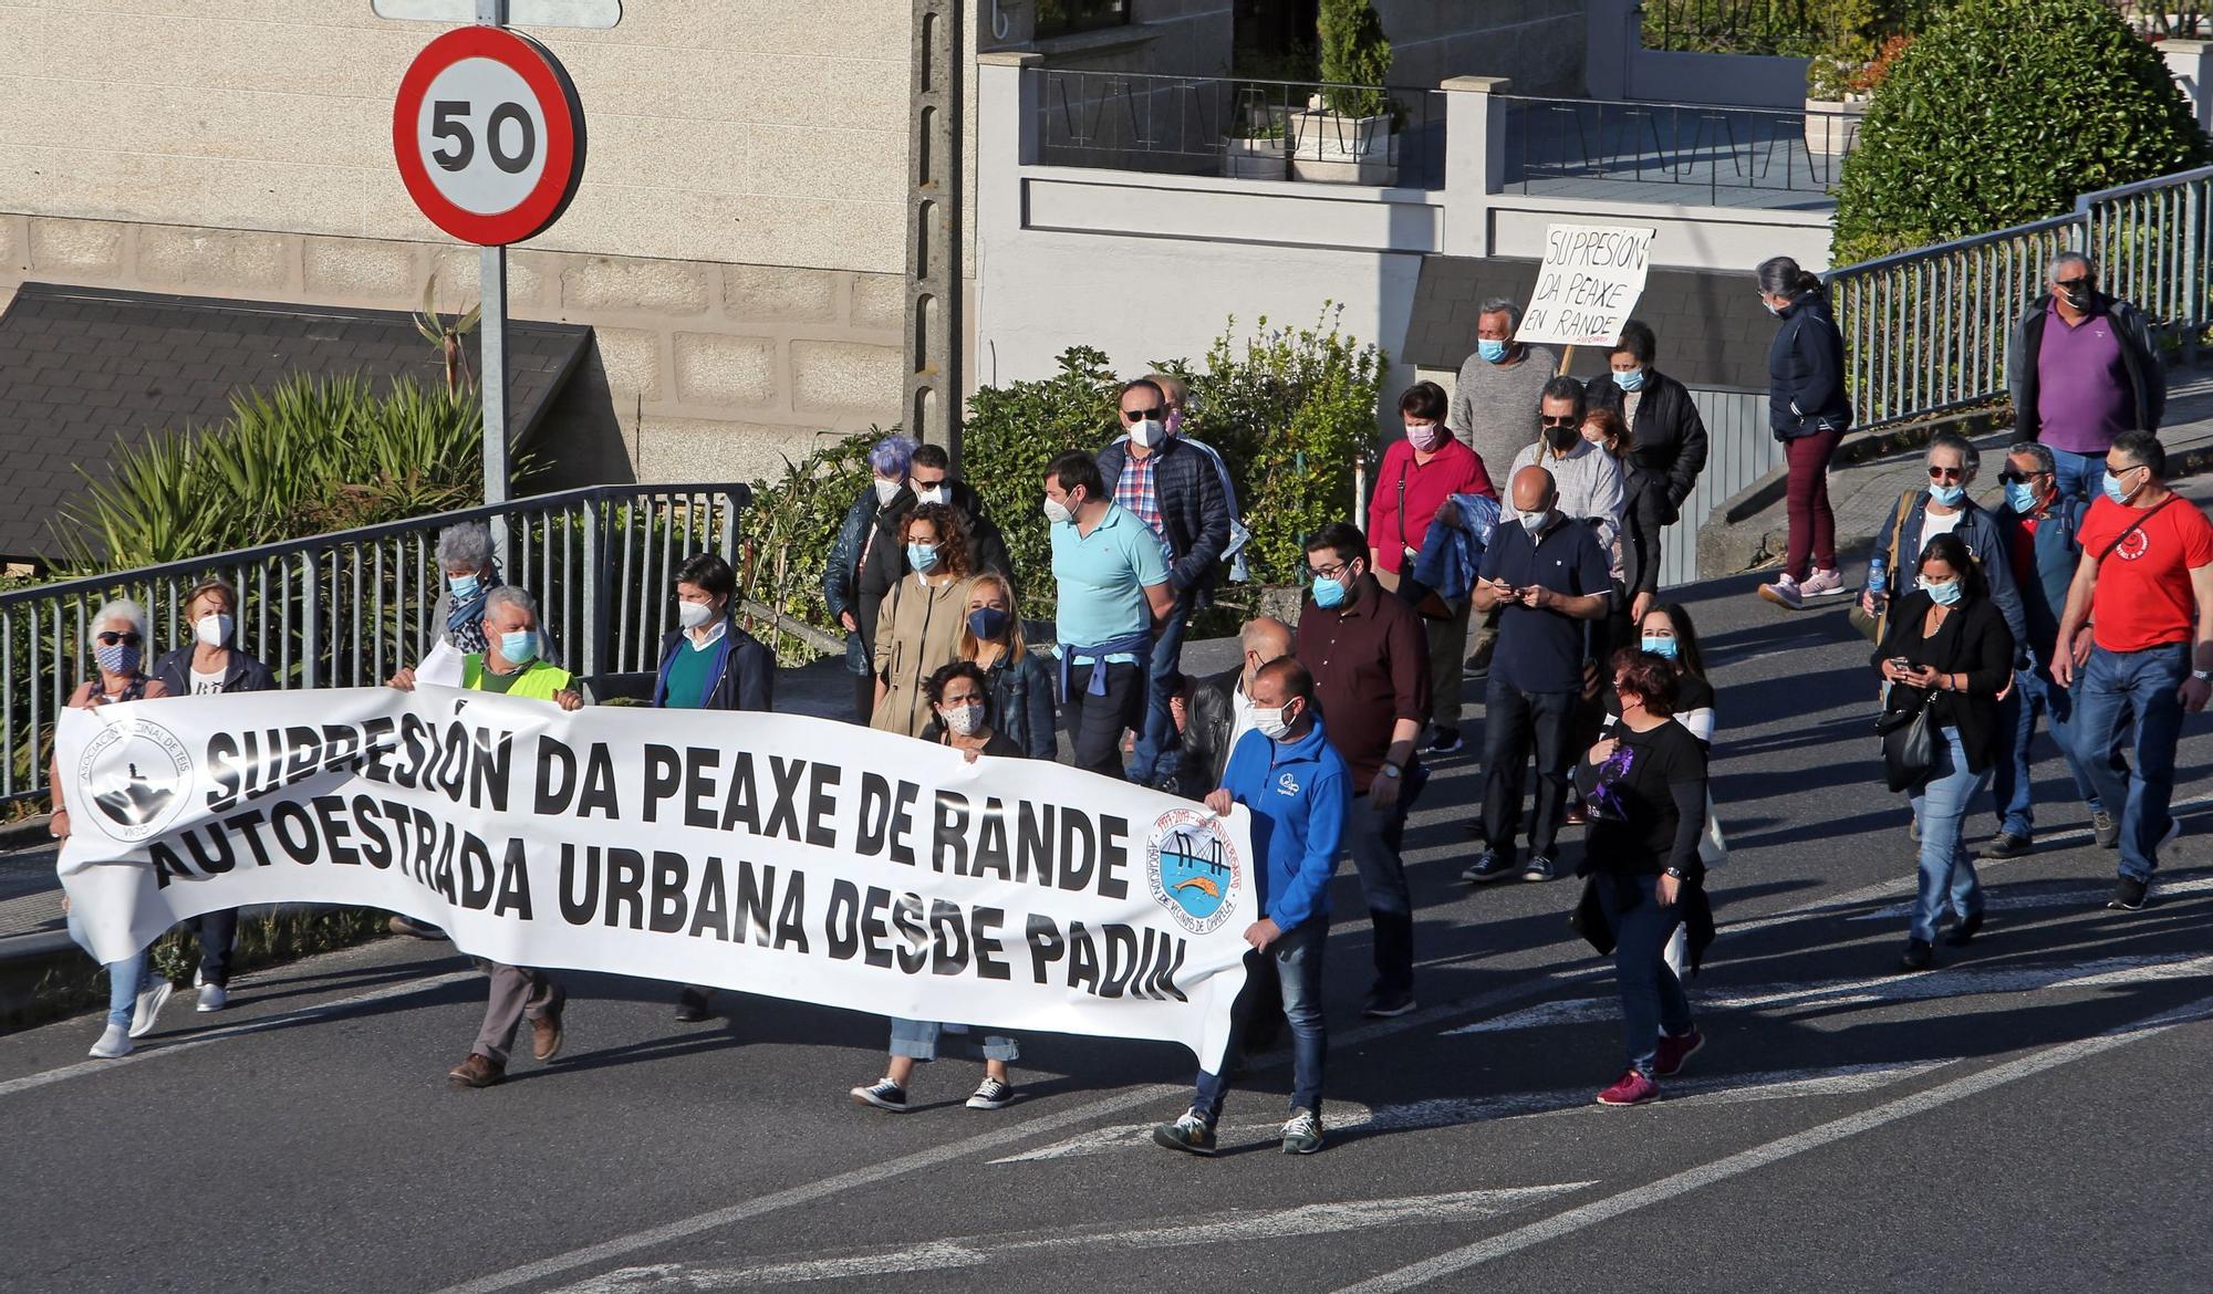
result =
[[[2213,522],[2167,489],[2167,451],[2151,431],[2127,431],[2105,453],[2105,498],[2089,504],[2078,538],[2082,564],[2067,588],[2051,677],[2082,679],[2076,754],[2098,799],[2120,814],[2120,883],[2107,907],[2144,907],[2160,847],[2182,825],[2175,794],[2182,712],[2213,695]],[[2136,772],[2127,781],[2100,759],[2131,723]]]

